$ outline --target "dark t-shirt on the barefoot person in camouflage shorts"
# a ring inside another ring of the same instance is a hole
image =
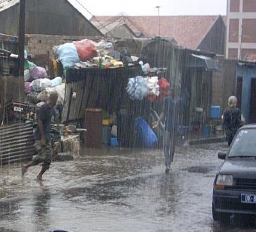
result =
[[[37,118],[42,122],[43,125],[43,130],[44,130],[44,136],[46,141],[51,140],[51,120],[52,120],[52,115],[55,112],[55,108],[52,107],[50,108],[47,104],[44,104],[41,106]],[[37,126],[35,130],[35,139],[36,140],[41,140],[41,133],[39,130],[39,127]]]

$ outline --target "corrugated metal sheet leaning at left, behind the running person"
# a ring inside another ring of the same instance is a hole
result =
[[[0,164],[29,160],[35,154],[34,141],[30,123],[0,127]]]

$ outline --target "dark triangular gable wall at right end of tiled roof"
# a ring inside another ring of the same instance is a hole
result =
[[[223,55],[225,53],[225,37],[226,26],[222,17],[218,16],[196,50],[199,49],[201,51],[214,52]]]

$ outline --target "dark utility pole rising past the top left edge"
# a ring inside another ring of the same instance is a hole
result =
[[[20,78],[20,95],[24,96],[24,51],[25,51],[25,9],[26,0],[20,0],[20,19],[19,19],[19,40],[18,40],[18,68]]]

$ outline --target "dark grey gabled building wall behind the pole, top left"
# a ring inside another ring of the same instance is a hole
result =
[[[19,4],[0,12],[0,33],[18,34]],[[26,34],[101,35],[67,0],[26,0]]]

